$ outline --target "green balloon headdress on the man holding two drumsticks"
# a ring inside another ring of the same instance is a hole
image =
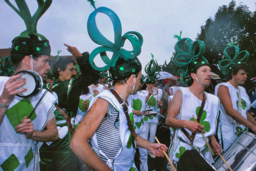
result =
[[[181,32],[180,32],[181,36]],[[201,40],[192,41],[190,38],[181,39],[175,44],[176,57],[174,63],[180,68],[180,74],[189,75],[201,66],[208,65],[208,60],[203,57],[205,52],[205,44]]]

